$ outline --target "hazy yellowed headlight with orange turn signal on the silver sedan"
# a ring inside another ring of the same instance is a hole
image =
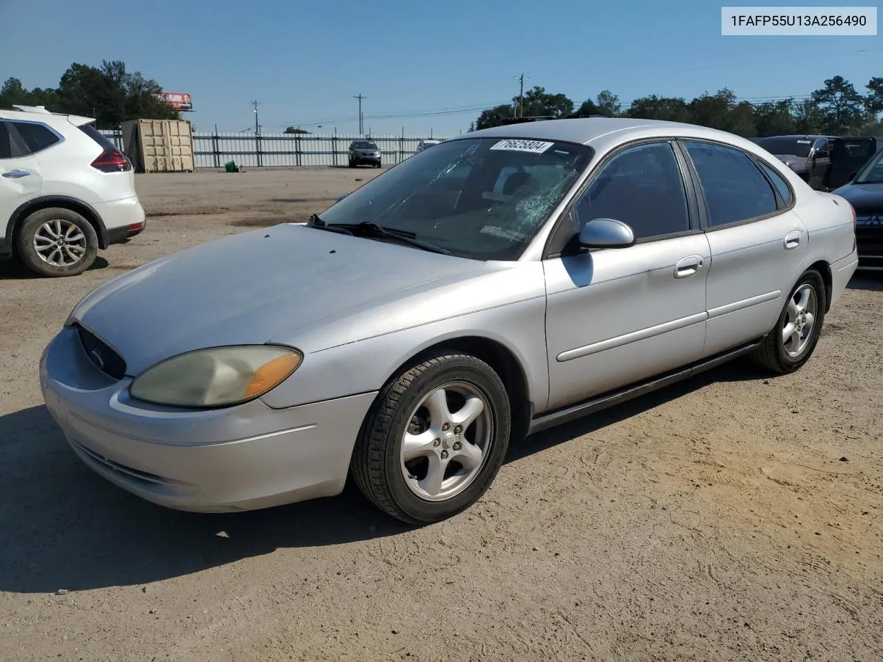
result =
[[[132,381],[133,398],[178,407],[223,407],[253,400],[298,369],[290,347],[238,345],[195,350],[148,368]]]

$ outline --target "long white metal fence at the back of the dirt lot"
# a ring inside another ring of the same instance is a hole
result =
[[[123,150],[123,133],[102,130]],[[451,136],[371,136],[381,150],[382,162],[403,162],[417,152],[420,140],[446,139]],[[269,168],[286,166],[345,166],[353,140],[364,136],[342,133],[211,133],[193,132],[193,158],[197,168],[223,168],[226,162],[238,166]]]

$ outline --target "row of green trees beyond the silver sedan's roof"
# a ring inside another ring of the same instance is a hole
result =
[[[842,76],[827,79],[824,87],[805,98],[785,98],[751,103],[740,101],[728,87],[702,94],[691,101],[683,97],[651,94],[623,108],[619,97],[604,90],[578,107],[564,94],[533,87],[511,104],[484,110],[471,129],[487,129],[516,117],[638,117],[700,124],[744,138],[789,134],[883,135],[883,78],[872,78],[862,92]]]

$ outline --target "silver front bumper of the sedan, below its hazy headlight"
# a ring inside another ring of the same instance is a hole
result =
[[[375,393],[274,410],[260,400],[181,410],[133,400],[64,328],[43,352],[49,413],[92,470],[143,499],[194,512],[268,508],[343,490]]]

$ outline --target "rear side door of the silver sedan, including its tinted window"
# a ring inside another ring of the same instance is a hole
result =
[[[736,147],[683,140],[704,199],[711,247],[705,357],[774,327],[806,252],[808,233],[795,196],[769,164]]]

